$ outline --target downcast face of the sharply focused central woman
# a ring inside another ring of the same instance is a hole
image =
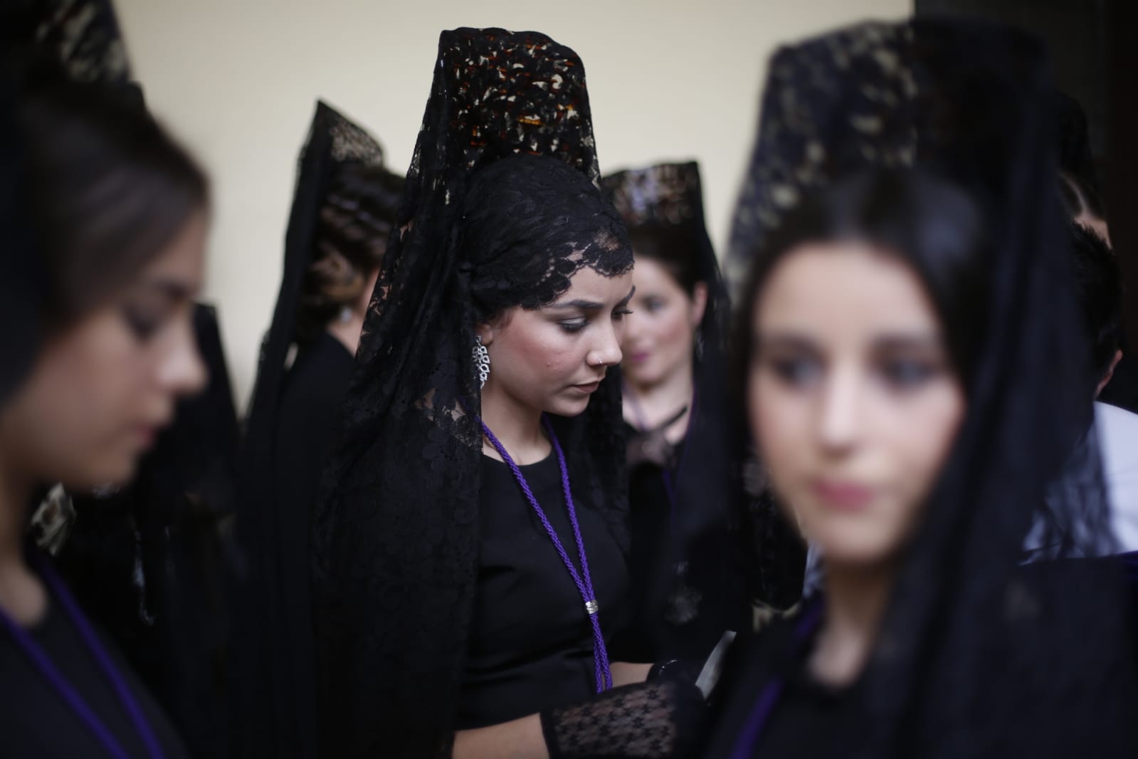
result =
[[[510,308],[478,335],[490,357],[483,398],[562,416],[588,406],[609,366],[620,363],[632,272],[603,277],[585,267],[569,289],[541,308]]]

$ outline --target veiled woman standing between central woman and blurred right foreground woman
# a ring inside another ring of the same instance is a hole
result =
[[[732,519],[741,508],[737,414],[727,407],[727,294],[695,163],[604,178],[636,267],[622,344],[633,621],[630,661],[702,663],[750,624]]]

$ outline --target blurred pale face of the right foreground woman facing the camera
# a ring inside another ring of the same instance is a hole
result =
[[[780,500],[827,563],[890,560],[965,410],[920,279],[867,246],[805,244],[767,278],[751,335],[750,424]]]

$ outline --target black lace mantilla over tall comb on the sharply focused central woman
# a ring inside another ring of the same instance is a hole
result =
[[[448,753],[478,556],[473,328],[497,307],[549,303],[582,266],[630,267],[599,176],[572,50],[535,32],[443,32],[313,520],[328,756]],[[585,413],[553,421],[575,486],[619,537],[613,373]]]

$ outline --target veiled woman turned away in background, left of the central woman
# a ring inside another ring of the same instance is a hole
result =
[[[241,756],[318,756],[308,517],[402,189],[379,143],[319,102],[246,428]]]

